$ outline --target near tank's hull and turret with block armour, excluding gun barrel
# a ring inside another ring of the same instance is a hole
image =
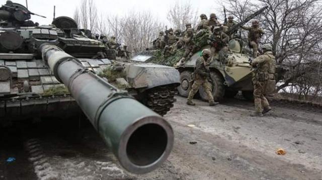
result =
[[[39,52],[43,43],[56,45],[78,58],[86,69],[127,90],[160,115],[165,115],[173,106],[176,87],[180,84],[176,69],[131,59],[116,60],[113,49],[92,39],[89,30],[78,29],[71,18],[58,17],[52,25],[39,26],[30,21],[31,15],[34,13],[23,5],[10,1],[0,8],[2,123],[43,116],[68,118],[78,111],[68,89],[43,61]],[[108,80],[107,74],[114,79]]]

